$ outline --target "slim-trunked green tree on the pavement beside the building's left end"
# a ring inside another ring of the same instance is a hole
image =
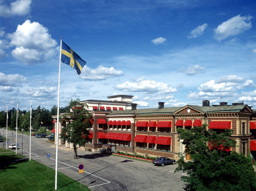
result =
[[[88,106],[80,103],[79,99],[71,100],[66,113],[60,117],[62,125],[61,138],[74,144],[74,159],[77,159],[76,145],[84,145],[88,142],[90,119],[92,114],[86,109]]]

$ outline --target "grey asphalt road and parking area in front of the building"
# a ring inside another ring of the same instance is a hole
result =
[[[21,154],[22,134],[18,133],[17,137],[18,153]],[[9,143],[16,143],[16,132],[12,140],[12,131],[8,131],[8,138]],[[48,143],[48,138],[32,137],[31,140],[31,159],[47,166],[47,154],[50,153],[49,167],[55,169],[56,148],[54,144]],[[1,144],[0,147],[2,147]],[[29,157],[29,136],[25,134],[23,134],[23,155]],[[185,183],[180,181],[182,172],[173,173],[177,164],[159,167],[144,161],[84,151],[83,148],[78,149],[78,159],[73,159],[73,156],[73,150],[66,150],[65,146],[59,147],[58,172],[79,182],[82,177],[82,184],[92,191],[185,190]],[[82,174],[78,173],[79,164],[84,165]],[[55,177],[52,179],[54,181]],[[57,188],[63,186],[65,185],[57,185]],[[55,187],[55,181],[53,187]]]

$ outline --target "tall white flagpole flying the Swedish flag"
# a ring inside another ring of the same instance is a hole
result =
[[[60,63],[61,63],[62,37],[60,37]],[[55,130],[56,141],[56,165],[55,165],[55,190],[57,190],[57,172],[58,172],[58,141],[59,141],[59,108],[60,108],[60,66],[59,66],[59,86],[58,86],[58,108],[57,108],[57,129]]]

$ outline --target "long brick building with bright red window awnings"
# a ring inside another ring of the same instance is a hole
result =
[[[109,148],[112,152],[119,150],[177,159],[185,148],[176,128],[189,130],[208,124],[209,129],[217,133],[233,129],[230,138],[237,144],[231,150],[253,159],[256,156],[256,110],[243,102],[231,105],[220,102],[220,105],[210,106],[209,100],[203,100],[202,106],[181,107],[164,107],[164,102],[159,102],[158,108],[136,109],[132,96],[108,98],[108,101],[83,101],[94,117],[90,142],[85,145],[92,151]]]

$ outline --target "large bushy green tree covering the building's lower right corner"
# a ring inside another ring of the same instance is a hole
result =
[[[182,176],[190,191],[244,191],[256,190],[256,172],[252,160],[243,154],[228,151],[236,146],[236,141],[230,139],[233,132],[226,129],[222,134],[208,131],[207,125],[191,130],[177,128],[181,133],[186,149],[190,155],[188,162],[184,154],[177,161],[176,171],[186,171],[188,176]]]

